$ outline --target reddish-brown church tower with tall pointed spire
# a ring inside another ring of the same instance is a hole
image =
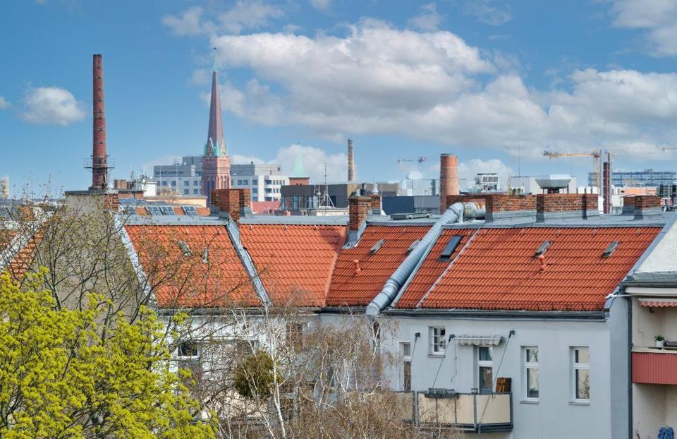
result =
[[[226,149],[224,124],[221,119],[221,98],[219,97],[219,69],[216,66],[214,47],[214,68],[212,71],[212,101],[209,104],[209,131],[205,154],[202,157],[202,193],[211,203],[214,189],[231,187],[231,159]]]

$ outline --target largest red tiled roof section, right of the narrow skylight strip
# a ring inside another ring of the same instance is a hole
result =
[[[599,311],[660,230],[483,228],[422,300],[421,307]],[[545,270],[534,258],[543,241],[551,241],[544,254]],[[618,248],[609,258],[602,258],[612,241],[620,242]],[[407,307],[415,299],[410,298]]]

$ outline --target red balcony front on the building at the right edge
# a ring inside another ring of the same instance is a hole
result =
[[[677,384],[677,350],[633,349],[633,383]]]

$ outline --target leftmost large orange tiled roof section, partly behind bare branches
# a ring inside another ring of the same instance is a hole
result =
[[[260,305],[224,226],[128,225],[126,230],[160,308]],[[190,256],[183,255],[178,241],[188,244]]]

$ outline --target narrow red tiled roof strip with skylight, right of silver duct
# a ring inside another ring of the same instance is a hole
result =
[[[414,275],[414,278],[409,283],[405,293],[397,303],[398,308],[413,308],[418,301],[430,289],[432,284],[441,276],[441,274],[449,267],[449,262],[456,258],[461,252],[465,243],[468,242],[470,236],[475,234],[479,229],[444,229],[439,235],[439,239],[433,244],[427,258]],[[462,236],[461,242],[458,243],[456,250],[453,251],[449,260],[439,260],[439,257],[444,250],[444,247],[452,236]]]

